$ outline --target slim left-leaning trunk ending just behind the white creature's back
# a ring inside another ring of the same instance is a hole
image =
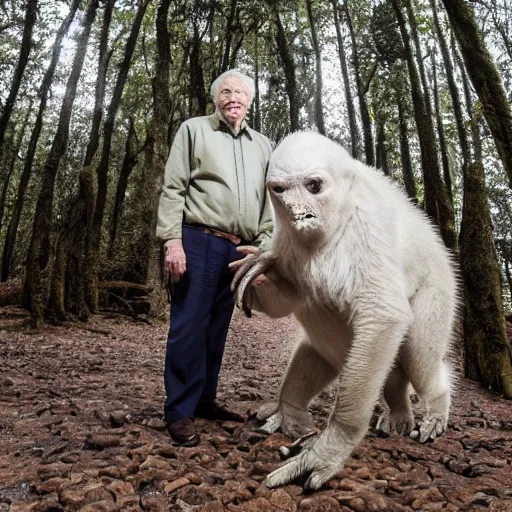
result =
[[[391,0],[391,2],[398,20],[407,57],[411,96],[414,105],[414,117],[420,141],[425,189],[425,210],[439,226],[446,246],[453,251],[456,251],[457,238],[455,233],[453,208],[439,172],[432,118],[427,116],[426,113],[423,95],[421,94],[418,72],[412,55],[409,34],[407,33],[405,19],[400,9],[399,0]]]

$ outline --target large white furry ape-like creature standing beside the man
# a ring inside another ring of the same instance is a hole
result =
[[[318,489],[365,436],[382,391],[390,408],[385,433],[423,443],[445,430],[444,356],[456,278],[423,212],[391,180],[319,134],[295,133],[276,148],[267,187],[273,246],[238,265],[233,289],[246,308],[272,317],[293,313],[304,331],[278,404],[258,412],[264,431],[293,437],[310,431],[309,402],[339,376],[325,429],[267,478],[274,487],[310,474],[305,487]],[[262,273],[266,284],[248,286]],[[409,383],[426,405],[417,425]]]

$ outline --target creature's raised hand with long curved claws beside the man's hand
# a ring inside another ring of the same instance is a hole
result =
[[[231,290],[236,291],[237,306],[243,308],[247,316],[251,316],[250,310],[245,306],[247,287],[250,283],[257,286],[267,282],[263,274],[275,263],[275,257],[270,251],[262,252],[252,246],[241,246],[237,251],[246,256],[229,264],[231,270],[236,270]],[[258,282],[255,282],[257,279]]]

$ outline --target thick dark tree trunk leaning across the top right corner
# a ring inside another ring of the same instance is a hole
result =
[[[443,0],[443,4],[512,187],[512,111],[501,76],[485,46],[469,3],[464,0]]]

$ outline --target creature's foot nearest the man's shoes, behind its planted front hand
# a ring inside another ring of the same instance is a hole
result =
[[[260,407],[256,417],[259,420],[265,420],[258,429],[264,434],[273,434],[281,430],[283,434],[296,439],[312,432],[315,428],[309,411],[286,403],[265,404]]]

